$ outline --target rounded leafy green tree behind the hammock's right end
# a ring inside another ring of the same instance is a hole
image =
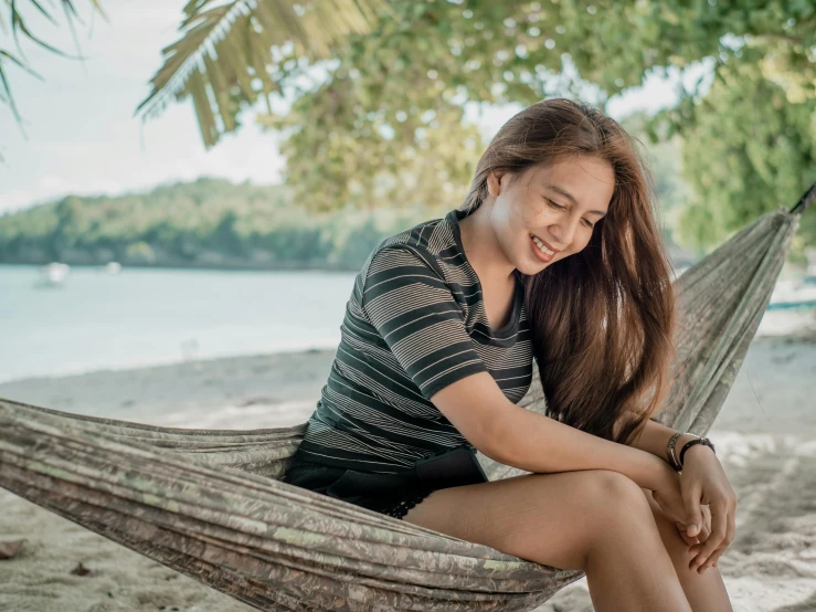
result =
[[[678,235],[699,251],[760,214],[789,210],[816,180],[816,99],[791,102],[762,74],[761,61],[748,49],[721,66],[704,110],[696,108],[682,130],[682,173],[695,189]],[[816,242],[816,214],[803,215],[799,235],[794,258]]]

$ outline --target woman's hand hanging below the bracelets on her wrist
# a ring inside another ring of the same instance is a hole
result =
[[[689,569],[702,573],[717,562],[734,539],[736,494],[728,482],[720,460],[711,449],[701,444],[686,452],[680,490],[688,511],[686,535],[700,540],[689,549],[695,553]],[[702,530],[703,510],[700,506],[708,506],[711,511],[711,532],[708,537]]]

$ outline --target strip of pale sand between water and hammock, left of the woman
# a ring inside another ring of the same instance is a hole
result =
[[[274,411],[278,422],[282,407],[303,407],[303,411],[310,403],[314,408],[336,352],[306,349],[32,377],[0,382],[0,398],[168,426],[206,428],[202,423],[213,420],[205,413],[243,412],[243,420],[255,421],[263,410]],[[191,424],[182,424],[187,420]]]

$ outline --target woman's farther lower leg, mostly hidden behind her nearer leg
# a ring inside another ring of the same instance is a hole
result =
[[[663,538],[666,551],[671,558],[675,571],[693,612],[733,612],[731,601],[725,591],[720,570],[708,568],[702,573],[689,569],[693,555],[689,553],[689,545],[682,539],[675,524],[663,514],[660,506],[651,497],[651,492],[643,489],[651,506],[657,529]]]

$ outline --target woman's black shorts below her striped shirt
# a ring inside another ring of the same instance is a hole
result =
[[[282,482],[394,518],[403,518],[435,490],[423,486],[413,471],[404,474],[358,472],[304,460],[296,460]]]

